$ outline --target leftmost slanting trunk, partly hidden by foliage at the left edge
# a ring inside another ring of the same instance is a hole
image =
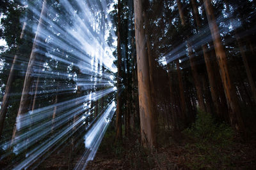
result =
[[[25,28],[26,28],[26,22],[24,22],[24,24],[23,24],[22,31],[21,31],[21,34],[20,34],[20,39],[23,39]],[[17,52],[19,52],[19,46],[17,47]],[[1,104],[1,110],[0,110],[0,139],[1,139],[2,132],[3,132],[4,120],[5,120],[5,117],[6,117],[8,101],[9,101],[9,97],[10,97],[10,90],[11,90],[12,83],[13,83],[13,77],[14,77],[14,71],[15,71],[14,67],[15,67],[15,65],[17,65],[17,60],[19,60],[19,55],[15,54],[14,58],[13,58],[13,61],[12,61],[12,67],[10,69],[8,80],[7,80],[7,83],[6,83],[6,87],[5,87],[3,102]]]

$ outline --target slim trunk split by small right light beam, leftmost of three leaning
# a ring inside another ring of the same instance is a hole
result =
[[[179,8],[179,15],[180,15],[181,24],[182,24],[182,26],[185,26],[186,25],[186,20],[185,20],[185,17],[184,17],[184,13],[183,13],[183,10],[182,10],[182,5],[180,3],[180,0],[177,0],[177,4],[178,4],[178,8]],[[195,65],[195,55],[194,55],[193,50],[191,48],[191,45],[188,41],[187,41],[187,46],[188,46],[189,62],[190,62],[190,66],[191,66],[193,79],[195,81],[196,94],[197,94],[197,97],[198,97],[199,107],[203,111],[206,111],[205,104],[204,104],[204,96],[203,96],[204,92],[202,90],[202,85],[200,83],[199,74],[198,74],[198,71],[197,71],[196,65]]]

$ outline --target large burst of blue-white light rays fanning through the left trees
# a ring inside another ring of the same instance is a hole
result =
[[[15,136],[0,145],[6,151],[0,159],[12,153],[17,155],[17,164],[10,165],[10,169],[36,167],[57,148],[71,145],[68,139],[83,135],[89,135],[90,149],[84,148],[90,150],[88,160],[92,160],[115,112],[113,98],[118,89],[113,51],[116,45],[107,43],[106,39],[109,34],[116,36],[106,0],[99,5],[91,0],[47,3],[45,16],[41,16],[42,2],[27,1],[26,10],[37,20],[28,20],[26,31],[30,34],[25,36],[26,40],[34,41],[33,34],[37,31],[33,80],[27,92],[28,100],[35,100],[36,106],[32,109],[30,104],[27,113],[16,118]],[[42,27],[37,29],[39,18]],[[6,56],[6,62],[12,58]],[[15,70],[24,76],[28,56],[19,53],[17,63],[22,67],[17,64]],[[22,94],[10,94],[19,95]],[[105,105],[97,106],[96,112],[94,103],[99,100],[104,100]],[[88,143],[89,139],[84,139]]]

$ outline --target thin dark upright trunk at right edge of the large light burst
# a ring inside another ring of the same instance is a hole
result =
[[[116,101],[116,141],[122,140],[122,98],[121,98],[121,35],[120,35],[120,29],[121,29],[121,1],[118,0],[118,27],[117,27],[117,62],[118,62],[118,71],[117,71],[117,101]]]

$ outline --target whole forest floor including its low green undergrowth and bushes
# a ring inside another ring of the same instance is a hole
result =
[[[183,132],[157,129],[158,146],[148,150],[141,146],[138,131],[115,143],[115,125],[111,125],[86,169],[256,169],[256,136],[248,136],[244,141],[228,125],[215,124],[199,113],[195,124]],[[36,169],[73,169],[83,152],[83,143],[73,152],[67,145],[37,160]],[[0,169],[10,164],[0,162]]]

